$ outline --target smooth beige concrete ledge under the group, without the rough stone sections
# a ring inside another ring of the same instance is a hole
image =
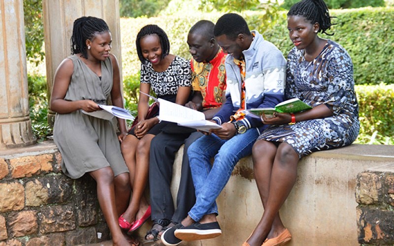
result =
[[[173,194],[179,183],[182,150],[174,162]],[[393,172],[393,163],[394,146],[382,145],[354,144],[303,158],[298,164],[296,185],[280,211],[293,235],[289,246],[360,245],[355,198],[358,174],[367,169]],[[223,235],[203,245],[241,245],[263,213],[251,156],[235,166],[217,203]],[[143,236],[144,232],[139,234]]]

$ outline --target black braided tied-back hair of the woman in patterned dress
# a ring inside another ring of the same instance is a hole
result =
[[[331,18],[329,16],[328,7],[323,0],[302,0],[294,4],[287,16],[303,16],[309,20],[312,24],[319,23],[319,32],[326,33],[327,35],[333,35],[334,33],[327,33],[326,30],[330,29]]]

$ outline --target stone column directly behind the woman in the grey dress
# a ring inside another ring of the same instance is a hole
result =
[[[42,0],[42,12],[48,100],[50,100],[56,68],[71,54],[72,25],[74,20],[81,16],[95,16],[108,24],[113,40],[111,53],[116,56],[120,69],[122,68],[119,0]],[[54,112],[49,112],[50,125],[53,125],[54,118]]]

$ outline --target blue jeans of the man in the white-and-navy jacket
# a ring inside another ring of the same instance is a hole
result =
[[[196,204],[188,215],[193,220],[199,221],[204,215],[218,214],[216,198],[229,181],[238,160],[252,154],[253,144],[259,135],[257,128],[251,128],[229,140],[220,139],[215,134],[204,135],[189,147]],[[215,160],[211,165],[213,156]]]

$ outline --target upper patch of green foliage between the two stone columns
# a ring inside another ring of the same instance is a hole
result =
[[[23,10],[25,19],[26,57],[37,65],[45,53],[42,49],[44,43],[44,26],[42,22],[42,0],[24,0]]]

